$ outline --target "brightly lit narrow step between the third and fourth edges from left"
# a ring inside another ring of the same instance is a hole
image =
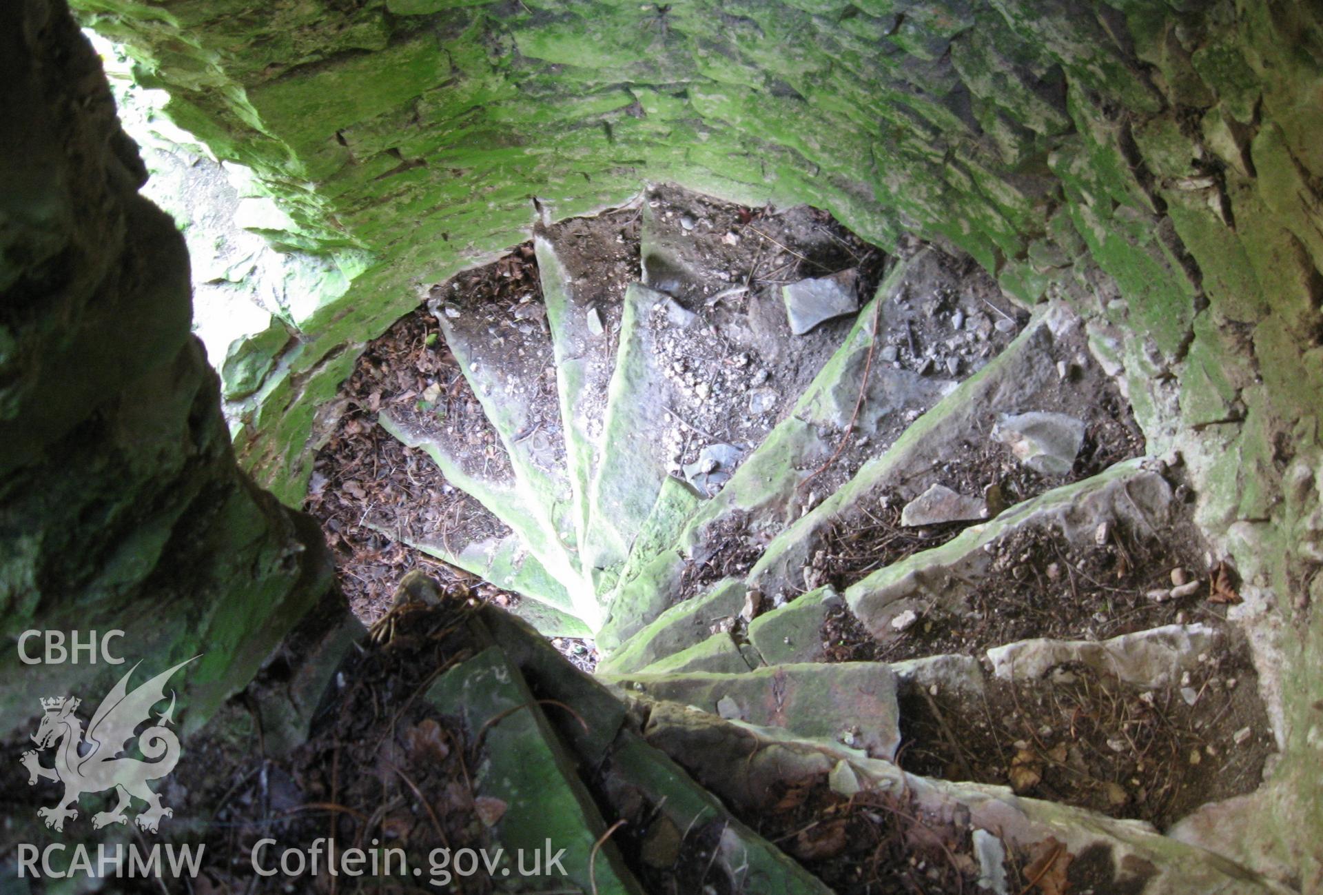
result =
[[[501,303],[452,289],[434,295],[427,307],[505,448],[515,490],[550,534],[544,549],[564,555],[554,565],[577,569],[578,530],[556,356],[540,286],[528,283],[523,295]]]

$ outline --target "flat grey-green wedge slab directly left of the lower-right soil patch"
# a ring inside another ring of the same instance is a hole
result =
[[[648,699],[664,699],[755,727],[778,727],[890,761],[900,745],[896,675],[878,662],[779,665],[744,674],[606,675]]]

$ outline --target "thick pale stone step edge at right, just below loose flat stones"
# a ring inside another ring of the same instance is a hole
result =
[[[941,547],[913,553],[873,572],[845,590],[845,601],[855,617],[884,645],[902,637],[913,638],[912,626],[925,618],[967,620],[970,626],[978,628],[975,614],[982,620],[992,613],[995,618],[996,613],[1007,609],[995,602],[987,604],[984,594],[991,592],[994,581],[1009,577],[1012,583],[1019,583],[1033,573],[1028,563],[1033,544],[1056,544],[1060,539],[1068,547],[1106,549],[1109,539],[1122,526],[1150,538],[1160,538],[1168,531],[1174,518],[1172,489],[1159,473],[1146,469],[1150,462],[1134,459],[1118,463],[1090,479],[1021,503],[991,522],[966,528]],[[1016,572],[1016,567],[1024,572]],[[1163,575],[1164,569],[1155,572]],[[1077,581],[1069,563],[1058,563],[1057,573],[1061,579],[1054,585],[1054,593],[1060,594],[1061,604],[1078,604],[1082,600],[1080,592],[1089,593],[1090,601],[1095,598],[1090,583]],[[1027,584],[1024,587],[1028,588]],[[1105,596],[1103,589],[1103,600]],[[1140,612],[1150,608],[1142,600],[1136,605]],[[1106,602],[1099,601],[1098,605],[1089,605],[1084,616],[1103,609]],[[1060,608],[1056,612],[1048,608],[1049,622],[1054,614],[1065,617]],[[1142,620],[1142,614],[1131,614]],[[1139,621],[1135,624],[1142,626]],[[990,629],[986,637],[996,636],[990,625],[982,628]],[[922,643],[914,649],[922,649]]]

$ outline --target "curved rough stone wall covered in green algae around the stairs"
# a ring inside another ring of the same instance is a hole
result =
[[[324,262],[237,448],[302,495],[357,347],[430,283],[676,180],[954,244],[1025,303],[1061,294],[1179,448],[1282,757],[1248,863],[1306,888],[1323,827],[1323,30],[1304,3],[77,0],[176,122],[254,168],[270,238]],[[11,339],[12,342],[12,339]],[[7,367],[13,361],[5,361]],[[7,371],[8,373],[8,371]],[[12,381],[4,379],[0,381]],[[15,387],[7,385],[7,389]],[[17,395],[17,392],[11,392]],[[8,418],[28,414],[21,397]]]

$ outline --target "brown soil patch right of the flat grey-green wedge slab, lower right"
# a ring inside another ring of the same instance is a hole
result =
[[[901,735],[897,760],[909,772],[1009,785],[1159,829],[1256,789],[1274,751],[1244,646],[1205,654],[1156,690],[1082,666],[988,679],[982,696],[912,686]]]

